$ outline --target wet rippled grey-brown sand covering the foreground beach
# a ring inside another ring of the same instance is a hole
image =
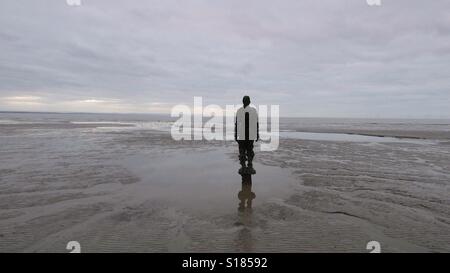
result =
[[[250,186],[232,142],[102,126],[0,125],[0,252],[450,251],[445,141],[282,139]]]

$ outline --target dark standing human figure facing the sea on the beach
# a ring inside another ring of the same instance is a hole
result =
[[[241,164],[239,173],[254,174],[256,172],[252,163],[255,155],[253,142],[259,140],[258,113],[255,108],[250,106],[249,96],[245,96],[242,102],[244,106],[237,110],[234,126],[234,139],[239,144],[239,162]],[[248,161],[248,166],[245,165],[245,161]]]

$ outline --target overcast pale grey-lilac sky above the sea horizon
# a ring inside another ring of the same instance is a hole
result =
[[[0,110],[450,118],[450,1],[0,1]]]

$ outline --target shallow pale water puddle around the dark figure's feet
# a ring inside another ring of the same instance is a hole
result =
[[[297,183],[289,170],[258,163],[254,164],[256,174],[241,176],[237,154],[227,149],[180,150],[161,158],[139,155],[126,164],[141,179],[134,196],[160,199],[195,212],[224,213],[257,206],[286,197]]]

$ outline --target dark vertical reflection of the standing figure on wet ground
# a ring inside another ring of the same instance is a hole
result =
[[[252,201],[256,195],[252,192],[252,176],[251,174],[241,174],[242,189],[238,193],[239,198],[239,225],[242,229],[238,233],[237,245],[242,251],[252,251],[253,238],[251,233],[252,220]]]

